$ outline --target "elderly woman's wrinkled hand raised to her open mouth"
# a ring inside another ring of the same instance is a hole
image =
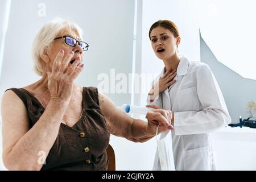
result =
[[[74,52],[68,53],[64,57],[64,51],[57,53],[53,61],[52,72],[47,72],[48,89],[51,94],[51,100],[70,101],[73,92],[73,81],[82,71],[83,64],[76,59],[69,65]],[[63,58],[64,57],[64,58]]]

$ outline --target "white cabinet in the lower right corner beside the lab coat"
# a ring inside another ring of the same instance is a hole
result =
[[[228,126],[210,137],[217,170],[256,170],[256,129]]]

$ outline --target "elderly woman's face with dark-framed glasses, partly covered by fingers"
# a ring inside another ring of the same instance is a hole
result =
[[[68,36],[66,38],[60,38],[61,36]],[[79,35],[77,34],[76,31],[67,31],[67,30],[63,30],[60,32],[60,34],[58,34],[56,36],[56,38],[59,39],[55,39],[52,43],[51,49],[48,52],[48,56],[49,56],[49,65],[52,68],[52,63],[55,60],[55,57],[57,55],[57,53],[59,53],[61,50],[64,51],[64,56],[68,55],[68,53],[70,52],[74,52],[74,55],[70,61],[70,64],[72,64],[76,59],[80,60],[80,63],[82,63],[82,59],[84,57],[84,53],[82,51],[82,47],[79,46],[79,43],[76,43],[76,46],[69,46],[67,43],[72,42],[72,38],[75,38],[78,41],[82,41],[81,38],[79,37]]]

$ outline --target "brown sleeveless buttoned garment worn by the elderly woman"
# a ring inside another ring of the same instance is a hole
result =
[[[24,102],[33,127],[44,112],[44,107],[30,92],[23,88],[11,88]],[[98,90],[82,89],[82,115],[69,127],[61,123],[59,134],[41,170],[106,170],[106,148],[110,133],[99,106]]]

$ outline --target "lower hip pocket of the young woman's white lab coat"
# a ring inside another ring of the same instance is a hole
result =
[[[185,151],[186,171],[210,170],[210,147],[200,147]]]

